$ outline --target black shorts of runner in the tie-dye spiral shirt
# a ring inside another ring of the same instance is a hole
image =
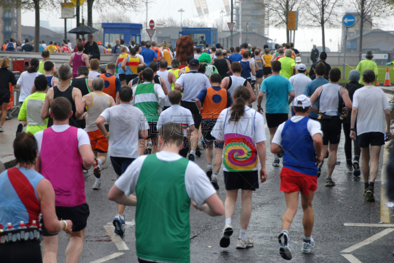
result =
[[[226,190],[252,190],[259,188],[258,171],[247,172],[227,172],[223,171],[225,176]]]

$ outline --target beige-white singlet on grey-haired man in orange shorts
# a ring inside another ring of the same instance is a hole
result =
[[[93,103],[88,106],[88,112],[86,113],[86,132],[92,132],[99,129],[96,125],[96,120],[106,108],[111,107],[111,101],[108,94],[101,95],[96,92],[92,92],[92,95]]]

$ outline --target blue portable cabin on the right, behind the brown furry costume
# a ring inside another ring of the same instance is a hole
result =
[[[218,43],[218,29],[217,28],[182,28],[182,32],[180,32],[182,36],[188,35],[190,36],[194,42],[196,47],[200,47],[204,49],[205,43],[208,43],[212,47]],[[201,36],[204,37],[205,43],[201,42]]]

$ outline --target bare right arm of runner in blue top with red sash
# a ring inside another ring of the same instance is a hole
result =
[[[45,222],[45,229],[49,234],[58,234],[62,230],[65,230],[65,222],[59,221],[55,211],[55,191],[53,190],[52,184],[47,179],[42,179],[37,183],[37,196],[40,200],[40,207],[42,213],[42,219]],[[67,222],[66,233],[70,234],[72,229],[71,220],[65,220]]]

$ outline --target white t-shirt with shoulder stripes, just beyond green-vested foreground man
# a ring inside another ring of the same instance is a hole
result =
[[[180,105],[172,105],[160,114],[157,129],[159,130],[164,123],[170,121],[182,124],[184,136],[187,135],[186,128],[194,124],[192,112]]]

